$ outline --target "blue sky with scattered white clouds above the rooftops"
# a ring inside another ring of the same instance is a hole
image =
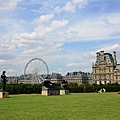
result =
[[[116,51],[120,0],[0,0],[0,72],[22,75],[32,58],[49,72],[92,72],[96,52]]]

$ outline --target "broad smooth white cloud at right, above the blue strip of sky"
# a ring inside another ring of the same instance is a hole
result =
[[[96,19],[88,19],[78,22],[76,25],[70,26],[66,32],[63,32],[65,40],[100,40],[120,38],[120,24],[106,24],[103,17]],[[106,16],[109,20],[111,16]],[[115,18],[112,19],[113,21]],[[120,18],[117,17],[119,21]]]

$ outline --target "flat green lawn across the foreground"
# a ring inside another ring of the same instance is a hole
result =
[[[0,99],[0,120],[120,120],[120,95],[10,95]]]

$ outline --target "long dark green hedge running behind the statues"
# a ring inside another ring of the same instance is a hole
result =
[[[61,84],[56,84],[57,88],[61,88]],[[117,92],[120,91],[120,85],[117,83],[97,85],[97,84],[78,84],[69,83],[68,85],[70,93],[83,93],[83,92],[96,92],[101,88],[105,88],[107,92]],[[6,91],[10,94],[31,94],[31,93],[41,93],[41,84],[7,84]]]

